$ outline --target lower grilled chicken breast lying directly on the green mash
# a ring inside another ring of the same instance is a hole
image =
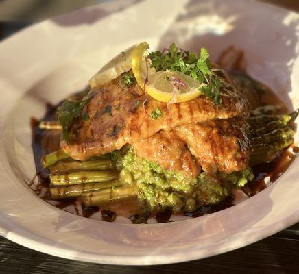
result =
[[[200,166],[210,174],[232,173],[248,166],[251,149],[246,127],[237,119],[191,123],[160,131],[133,147],[137,156],[190,177],[198,176]]]

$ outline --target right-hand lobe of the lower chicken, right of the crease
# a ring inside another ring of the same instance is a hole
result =
[[[251,149],[246,127],[243,121],[217,119],[182,125],[174,132],[186,142],[204,171],[232,173],[248,166]]]

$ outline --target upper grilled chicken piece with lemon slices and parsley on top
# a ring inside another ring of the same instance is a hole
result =
[[[160,130],[169,132],[190,123],[247,117],[246,99],[230,82],[226,73],[220,72],[224,85],[221,90],[222,104],[219,106],[204,95],[184,103],[167,105],[147,97],[137,85],[126,88],[119,77],[101,90],[90,93],[91,101],[84,110],[90,119],[83,121],[81,116],[77,118],[70,130],[70,144],[62,140],[60,146],[71,158],[86,160],[94,155],[121,149],[127,143],[134,144],[150,138]],[[163,115],[152,119],[151,113],[156,108]],[[182,130],[180,132],[182,134]],[[196,173],[195,170],[193,173]]]

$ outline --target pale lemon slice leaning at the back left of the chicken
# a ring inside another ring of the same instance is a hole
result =
[[[132,69],[132,58],[136,46],[137,45],[134,45],[122,51],[119,55],[110,60],[89,80],[89,86],[91,86],[92,89],[96,89],[116,79],[122,73],[130,71],[130,69]]]

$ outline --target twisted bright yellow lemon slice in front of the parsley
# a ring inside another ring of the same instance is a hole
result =
[[[164,103],[181,103],[195,99],[202,94],[201,83],[179,71],[158,71],[150,67],[147,59],[147,42],[134,48],[132,70],[136,82],[154,99]]]

